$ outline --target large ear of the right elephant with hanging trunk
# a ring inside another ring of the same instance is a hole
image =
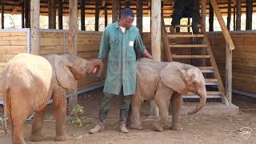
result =
[[[177,91],[179,94],[188,92],[186,86],[186,71],[181,69],[182,64],[170,62],[160,73],[160,78],[164,85]]]

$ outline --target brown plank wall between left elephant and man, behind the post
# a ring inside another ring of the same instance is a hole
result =
[[[79,32],[78,31],[78,57],[88,60],[98,57],[98,49],[102,37],[101,32]],[[64,54],[66,53],[68,33],[66,30],[49,30],[48,32],[39,32],[40,51],[39,54]],[[102,78],[96,78],[94,75],[78,81],[78,90],[90,88],[102,84],[105,78],[105,72]]]

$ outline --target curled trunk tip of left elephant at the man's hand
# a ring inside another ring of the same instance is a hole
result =
[[[89,66],[87,67],[87,73],[91,74],[94,70],[94,67],[97,67],[97,77],[100,77],[103,70],[103,62],[101,59],[93,59],[89,61]]]

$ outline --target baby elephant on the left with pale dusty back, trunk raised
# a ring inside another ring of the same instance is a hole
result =
[[[77,80],[88,74],[102,71],[101,60],[87,61],[70,54],[49,54],[44,57],[33,54],[18,54],[2,70],[0,90],[4,99],[4,116],[10,118],[12,142],[26,143],[23,138],[23,126],[33,112],[34,123],[31,141],[42,140],[41,130],[46,105],[50,98],[54,100],[57,141],[67,139],[64,130],[66,116],[66,89],[75,89]]]

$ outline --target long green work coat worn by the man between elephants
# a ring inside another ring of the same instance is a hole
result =
[[[98,58],[108,56],[104,93],[124,95],[135,93],[136,55],[134,47],[143,52],[145,46],[136,26],[130,26],[124,33],[118,22],[106,26],[102,34]]]

